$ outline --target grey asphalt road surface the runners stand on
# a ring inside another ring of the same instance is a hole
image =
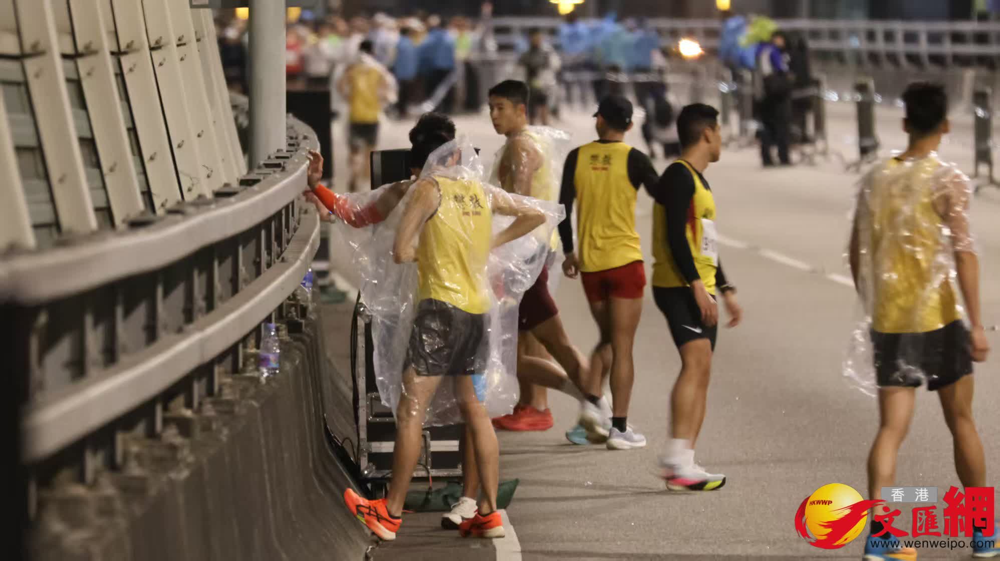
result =
[[[883,146],[903,142],[898,115],[880,110]],[[831,108],[831,146],[853,154],[853,111]],[[502,138],[486,116],[456,119],[460,133],[492,154]],[[383,148],[405,146],[408,123],[383,128]],[[556,126],[576,144],[595,137],[589,113]],[[968,126],[956,132],[968,136]],[[340,131],[338,130],[338,134]],[[642,147],[638,131],[628,141]],[[971,163],[968,138],[942,149]],[[338,144],[339,145],[339,144]],[[657,169],[666,162],[655,162]],[[340,168],[343,169],[343,168]],[[521,486],[509,509],[525,559],[860,559],[863,539],[829,552],[797,537],[799,503],[818,487],[841,482],[864,491],[865,459],[875,434],[875,401],[842,376],[841,362],[858,317],[843,252],[858,175],[837,159],[816,166],[764,170],[752,149],[727,150],[705,174],[718,206],[721,257],[739,287],[743,325],[721,330],[708,412],[697,459],[728,476],[718,492],[664,490],[654,462],[666,442],[670,387],[680,368],[666,323],[647,291],[635,345],[636,385],[629,422],[647,448],[610,452],[570,445],[562,432],[576,404],[550,393],[556,427],[545,433],[501,435],[501,475]],[[638,229],[649,256],[652,201],[643,192]],[[973,227],[982,260],[987,325],[1000,323],[1000,189],[976,197]],[[347,263],[335,255],[337,263]],[[648,263],[651,263],[648,257]],[[349,267],[337,267],[351,279]],[[840,275],[840,276],[838,276]],[[573,341],[589,351],[597,340],[578,281],[563,280],[556,300]],[[994,355],[977,365],[975,416],[992,485],[1000,485],[1000,333]],[[918,411],[901,451],[900,485],[958,485],[950,435],[940,407],[921,390]],[[943,503],[941,503],[943,507]],[[908,510],[907,510],[908,514]],[[908,527],[908,516],[902,526]],[[930,550],[921,559],[966,559],[968,550]]]

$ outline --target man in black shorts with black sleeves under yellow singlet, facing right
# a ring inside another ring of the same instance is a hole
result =
[[[681,111],[681,159],[667,168],[653,193],[653,298],[681,355],[681,373],[671,394],[671,438],[660,460],[671,490],[710,491],[726,483],[724,475],[694,463],[719,319],[716,294],[722,295],[729,327],[742,316],[736,290],[719,263],[715,199],[701,174],[722,153],[718,115],[702,104]]]

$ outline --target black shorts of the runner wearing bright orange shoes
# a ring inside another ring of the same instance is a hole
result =
[[[486,371],[486,314],[422,300],[410,332],[406,364],[422,376],[471,376]]]

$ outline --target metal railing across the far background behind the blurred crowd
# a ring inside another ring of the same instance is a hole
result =
[[[998,22],[908,22],[865,20],[779,19],[781,29],[803,34],[817,55],[831,55],[845,62],[897,66],[1000,65]],[[492,21],[497,45],[513,49],[530,28],[555,35],[558,18],[500,17]],[[684,37],[697,40],[706,50],[719,48],[722,24],[710,19],[651,18],[665,47]],[[558,46],[558,45],[557,45]]]

